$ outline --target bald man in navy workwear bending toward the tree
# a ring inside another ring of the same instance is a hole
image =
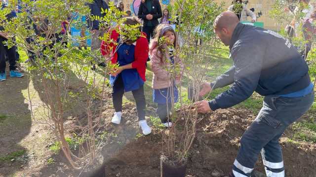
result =
[[[308,65],[288,39],[271,30],[238,23],[233,12],[223,12],[216,18],[214,32],[229,46],[234,65],[215,82],[204,83],[200,96],[232,86],[209,102],[197,102],[197,111],[232,107],[254,91],[265,96],[257,118],[241,137],[230,177],[251,177],[260,152],[267,177],[284,177],[278,141],[313,104]]]

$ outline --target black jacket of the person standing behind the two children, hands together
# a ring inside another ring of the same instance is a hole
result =
[[[143,3],[143,2],[140,3],[137,16],[138,16],[138,18],[143,19],[143,21],[144,21],[143,26],[146,27],[147,22],[149,21],[149,20],[147,20],[146,15],[152,14],[153,19],[150,21],[152,22],[153,26],[156,27],[159,24],[158,19],[162,17],[161,6],[159,3],[159,0],[152,0],[152,8],[151,9],[148,9],[146,7],[146,1],[145,1],[145,3]]]

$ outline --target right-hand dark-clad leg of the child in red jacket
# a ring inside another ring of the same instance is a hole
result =
[[[136,101],[138,120],[145,120],[146,99],[145,99],[145,93],[144,93],[144,86],[141,86],[137,90],[132,90],[132,93]]]

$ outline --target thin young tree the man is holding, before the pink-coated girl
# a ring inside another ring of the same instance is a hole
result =
[[[211,58],[216,56],[216,49],[220,47],[213,32],[213,22],[222,12],[222,5],[212,0],[175,0],[173,20],[176,22],[177,41],[179,46],[175,49],[175,58],[180,58],[185,65],[184,75],[193,88],[193,100],[198,100],[199,89],[205,80],[205,73],[212,68]],[[214,66],[215,67],[215,66]],[[167,68],[171,70],[170,77],[174,80],[178,75],[179,67]],[[183,79],[184,80],[184,79]],[[171,81],[171,83],[173,83]],[[194,109],[194,101],[185,105],[179,86],[181,112],[176,112],[172,104],[171,119],[173,126],[162,131],[163,156],[177,165],[187,162],[187,155],[196,135],[196,123],[200,116]],[[173,95],[173,90],[170,90]],[[172,100],[172,99],[171,99]],[[182,122],[182,123],[181,123]]]

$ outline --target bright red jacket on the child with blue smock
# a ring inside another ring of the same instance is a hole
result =
[[[111,39],[114,41],[118,40],[118,32],[116,30],[112,30]],[[116,50],[116,46],[114,43],[110,43],[109,45],[106,44],[105,41],[102,41],[101,43],[101,54],[103,56],[108,55],[110,53],[110,49],[112,48],[112,63],[118,62],[118,53],[114,54],[114,51]],[[132,67],[136,68],[139,76],[142,78],[142,80],[145,82],[145,73],[146,73],[146,62],[148,59],[148,52],[149,52],[149,46],[148,46],[148,40],[146,38],[146,33],[142,32],[142,36],[139,37],[136,40],[136,46],[135,46],[135,53],[134,58],[135,60],[132,62]]]

